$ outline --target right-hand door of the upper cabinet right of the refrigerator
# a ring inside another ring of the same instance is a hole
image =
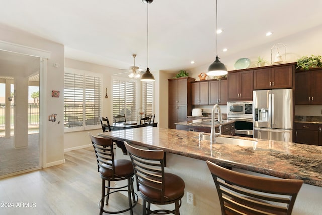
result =
[[[311,83],[311,104],[320,105],[322,104],[322,70],[311,71]]]

